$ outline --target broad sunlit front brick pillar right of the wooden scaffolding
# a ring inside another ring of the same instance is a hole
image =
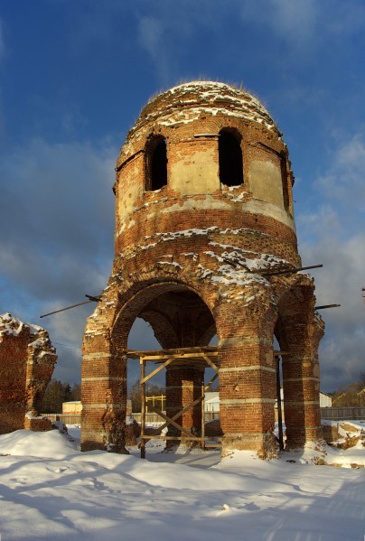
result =
[[[260,309],[264,303],[260,304]],[[222,452],[255,450],[275,454],[276,367],[273,329],[276,313],[244,312],[226,306],[220,310],[220,425]],[[258,315],[258,317],[257,317]]]

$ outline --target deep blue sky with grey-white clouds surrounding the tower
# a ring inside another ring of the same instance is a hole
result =
[[[323,390],[360,378],[365,311],[362,0],[15,0],[0,7],[0,312],[42,324],[80,379],[90,305],[113,257],[114,166],[148,98],[242,83],[284,132],[295,219],[327,328]],[[138,324],[130,346],[152,346]],[[66,344],[66,345],[61,345]]]

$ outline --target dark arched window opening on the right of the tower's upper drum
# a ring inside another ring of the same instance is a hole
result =
[[[243,160],[238,133],[228,129],[220,131],[220,182],[226,186],[243,184]]]

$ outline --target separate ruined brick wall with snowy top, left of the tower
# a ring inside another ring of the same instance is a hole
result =
[[[42,327],[21,322],[10,313],[0,316],[0,434],[24,427],[46,428],[37,419],[37,410],[56,360],[56,350]]]

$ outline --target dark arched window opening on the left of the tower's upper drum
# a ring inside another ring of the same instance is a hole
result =
[[[162,135],[151,137],[146,152],[147,191],[161,190],[167,184],[166,139]]]

